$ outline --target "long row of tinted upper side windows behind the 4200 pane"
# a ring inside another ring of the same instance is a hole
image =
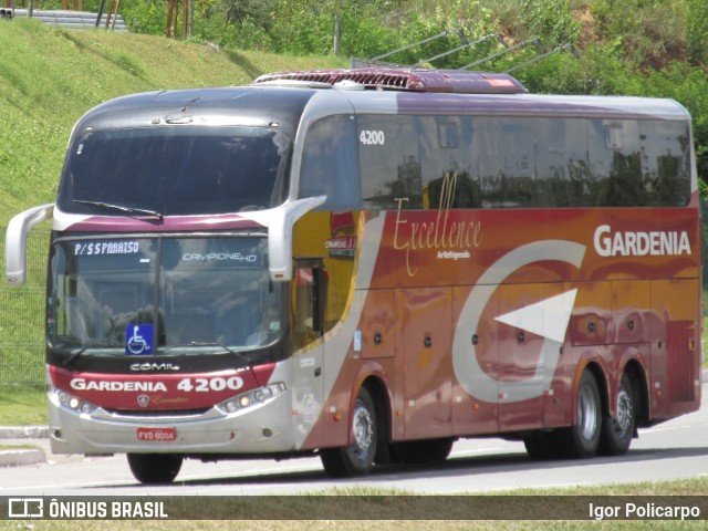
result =
[[[685,123],[418,119],[425,208],[683,206],[690,195]]]

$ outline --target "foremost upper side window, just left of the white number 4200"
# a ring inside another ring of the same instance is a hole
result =
[[[327,116],[315,122],[302,153],[298,197],[327,196],[320,210],[358,210],[358,175],[354,116]]]

